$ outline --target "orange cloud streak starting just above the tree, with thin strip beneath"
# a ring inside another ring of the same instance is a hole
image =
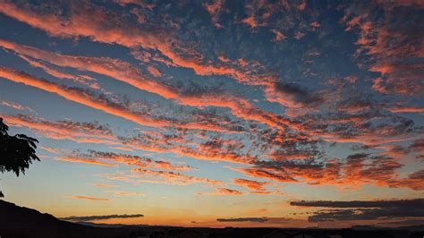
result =
[[[68,121],[64,122],[50,122],[41,118],[36,118],[32,116],[19,115],[1,115],[0,117],[4,118],[4,121],[13,126],[25,126],[36,132],[40,132],[43,136],[55,139],[55,140],[73,140],[78,143],[102,143],[107,145],[121,145],[124,147],[124,150],[140,149],[147,150],[158,153],[174,153],[181,156],[193,157],[201,160],[218,160],[218,161],[228,161],[233,163],[242,163],[249,164],[254,157],[239,155],[233,153],[230,150],[226,149],[208,149],[205,146],[200,146],[199,149],[203,151],[198,151],[197,149],[191,149],[189,147],[184,147],[181,145],[172,145],[166,143],[166,147],[162,145],[165,142],[165,139],[159,135],[150,135],[154,136],[154,143],[142,143],[142,140],[119,140],[117,139],[112,132],[109,132],[104,125],[99,125],[95,123],[72,123]],[[118,147],[118,149],[121,149]],[[103,159],[110,159],[114,162],[124,163],[130,165],[151,167],[151,168],[162,168],[162,169],[171,169],[171,170],[180,170],[187,171],[192,169],[190,166],[174,166],[170,165],[167,162],[149,163],[148,165],[140,164],[140,160],[137,157],[128,157],[124,155],[112,155],[112,154],[98,154],[97,155]],[[138,163],[138,164],[137,164]]]

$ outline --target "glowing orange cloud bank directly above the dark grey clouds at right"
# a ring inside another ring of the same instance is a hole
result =
[[[422,141],[416,141],[409,150],[422,151]],[[259,166],[231,168],[250,177],[264,178],[280,183],[308,183],[310,185],[331,184],[343,188],[358,189],[364,184],[382,187],[406,187],[424,190],[420,183],[422,171],[400,177],[398,169],[403,167],[394,157],[353,154],[342,161],[328,161],[325,164],[302,164],[296,161],[261,162]],[[244,181],[241,184],[248,184]],[[253,188],[257,184],[253,184]],[[259,186],[260,188],[260,186]],[[252,191],[258,194],[282,194],[281,192]]]

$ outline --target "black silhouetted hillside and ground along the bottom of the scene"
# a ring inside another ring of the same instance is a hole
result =
[[[99,227],[103,226],[103,227]],[[390,238],[424,237],[423,227],[399,229],[277,229],[277,228],[184,228],[148,225],[95,225],[61,221],[35,209],[0,200],[0,237],[246,237],[246,238]],[[421,231],[420,231],[421,230]]]

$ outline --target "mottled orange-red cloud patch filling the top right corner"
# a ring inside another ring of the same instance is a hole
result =
[[[413,7],[413,2],[371,3],[372,7],[379,7],[384,12],[386,17],[383,21],[375,20],[377,13],[370,11],[371,5],[355,11],[348,8],[343,17],[348,26],[346,30],[358,29],[357,55],[364,57],[364,66],[370,72],[380,73],[372,86],[378,92],[422,95],[424,84],[421,75],[424,66],[419,59],[424,56],[424,43],[414,35],[414,32],[422,28],[422,23],[415,23],[420,19],[419,15],[399,14],[398,8],[394,7]]]

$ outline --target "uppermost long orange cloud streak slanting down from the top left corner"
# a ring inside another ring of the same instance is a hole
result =
[[[34,28],[45,30],[52,36],[87,37],[94,41],[119,44],[124,47],[155,49],[171,59],[174,64],[190,68],[199,75],[228,75],[241,83],[267,84],[267,81],[264,81],[264,78],[260,76],[247,75],[245,72],[232,67],[201,64],[194,58],[178,55],[174,50],[174,45],[179,42],[169,34],[140,30],[129,22],[122,21],[121,16],[118,18],[118,15],[106,13],[105,9],[88,3],[71,4],[71,17],[68,20],[59,18],[55,14],[34,13],[28,6],[18,6],[9,1],[0,3],[0,12]],[[93,15],[97,17],[93,19]],[[108,24],[105,24],[105,22],[108,22]]]

